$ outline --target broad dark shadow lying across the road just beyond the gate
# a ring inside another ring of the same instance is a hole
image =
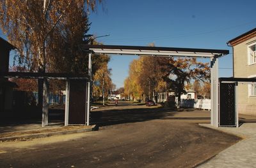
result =
[[[131,109],[106,109],[104,111],[93,111],[91,123],[104,127],[120,123],[145,122],[148,120],[210,120],[208,116],[175,116],[177,113],[193,113],[197,109],[176,109],[168,108],[134,108]]]

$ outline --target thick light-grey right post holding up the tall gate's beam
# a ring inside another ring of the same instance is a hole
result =
[[[211,125],[219,127],[218,58],[211,58]]]

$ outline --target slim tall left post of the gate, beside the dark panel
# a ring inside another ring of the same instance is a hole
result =
[[[90,119],[90,88],[91,88],[91,82],[92,82],[92,53],[89,53],[88,58],[88,76],[89,80],[87,82],[87,106],[86,106],[86,125],[89,125],[89,119]]]

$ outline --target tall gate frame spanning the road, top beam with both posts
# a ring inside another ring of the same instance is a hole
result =
[[[198,57],[211,59],[211,125],[219,127],[219,92],[218,92],[218,59],[227,55],[229,50],[214,50],[204,48],[173,48],[157,46],[120,46],[120,45],[83,45],[88,51],[88,76],[92,76],[92,54],[138,55],[148,57]],[[89,80],[88,90],[92,80]],[[90,94],[90,92],[88,93]],[[90,102],[88,101],[88,107]],[[89,111],[89,110],[88,110]]]

